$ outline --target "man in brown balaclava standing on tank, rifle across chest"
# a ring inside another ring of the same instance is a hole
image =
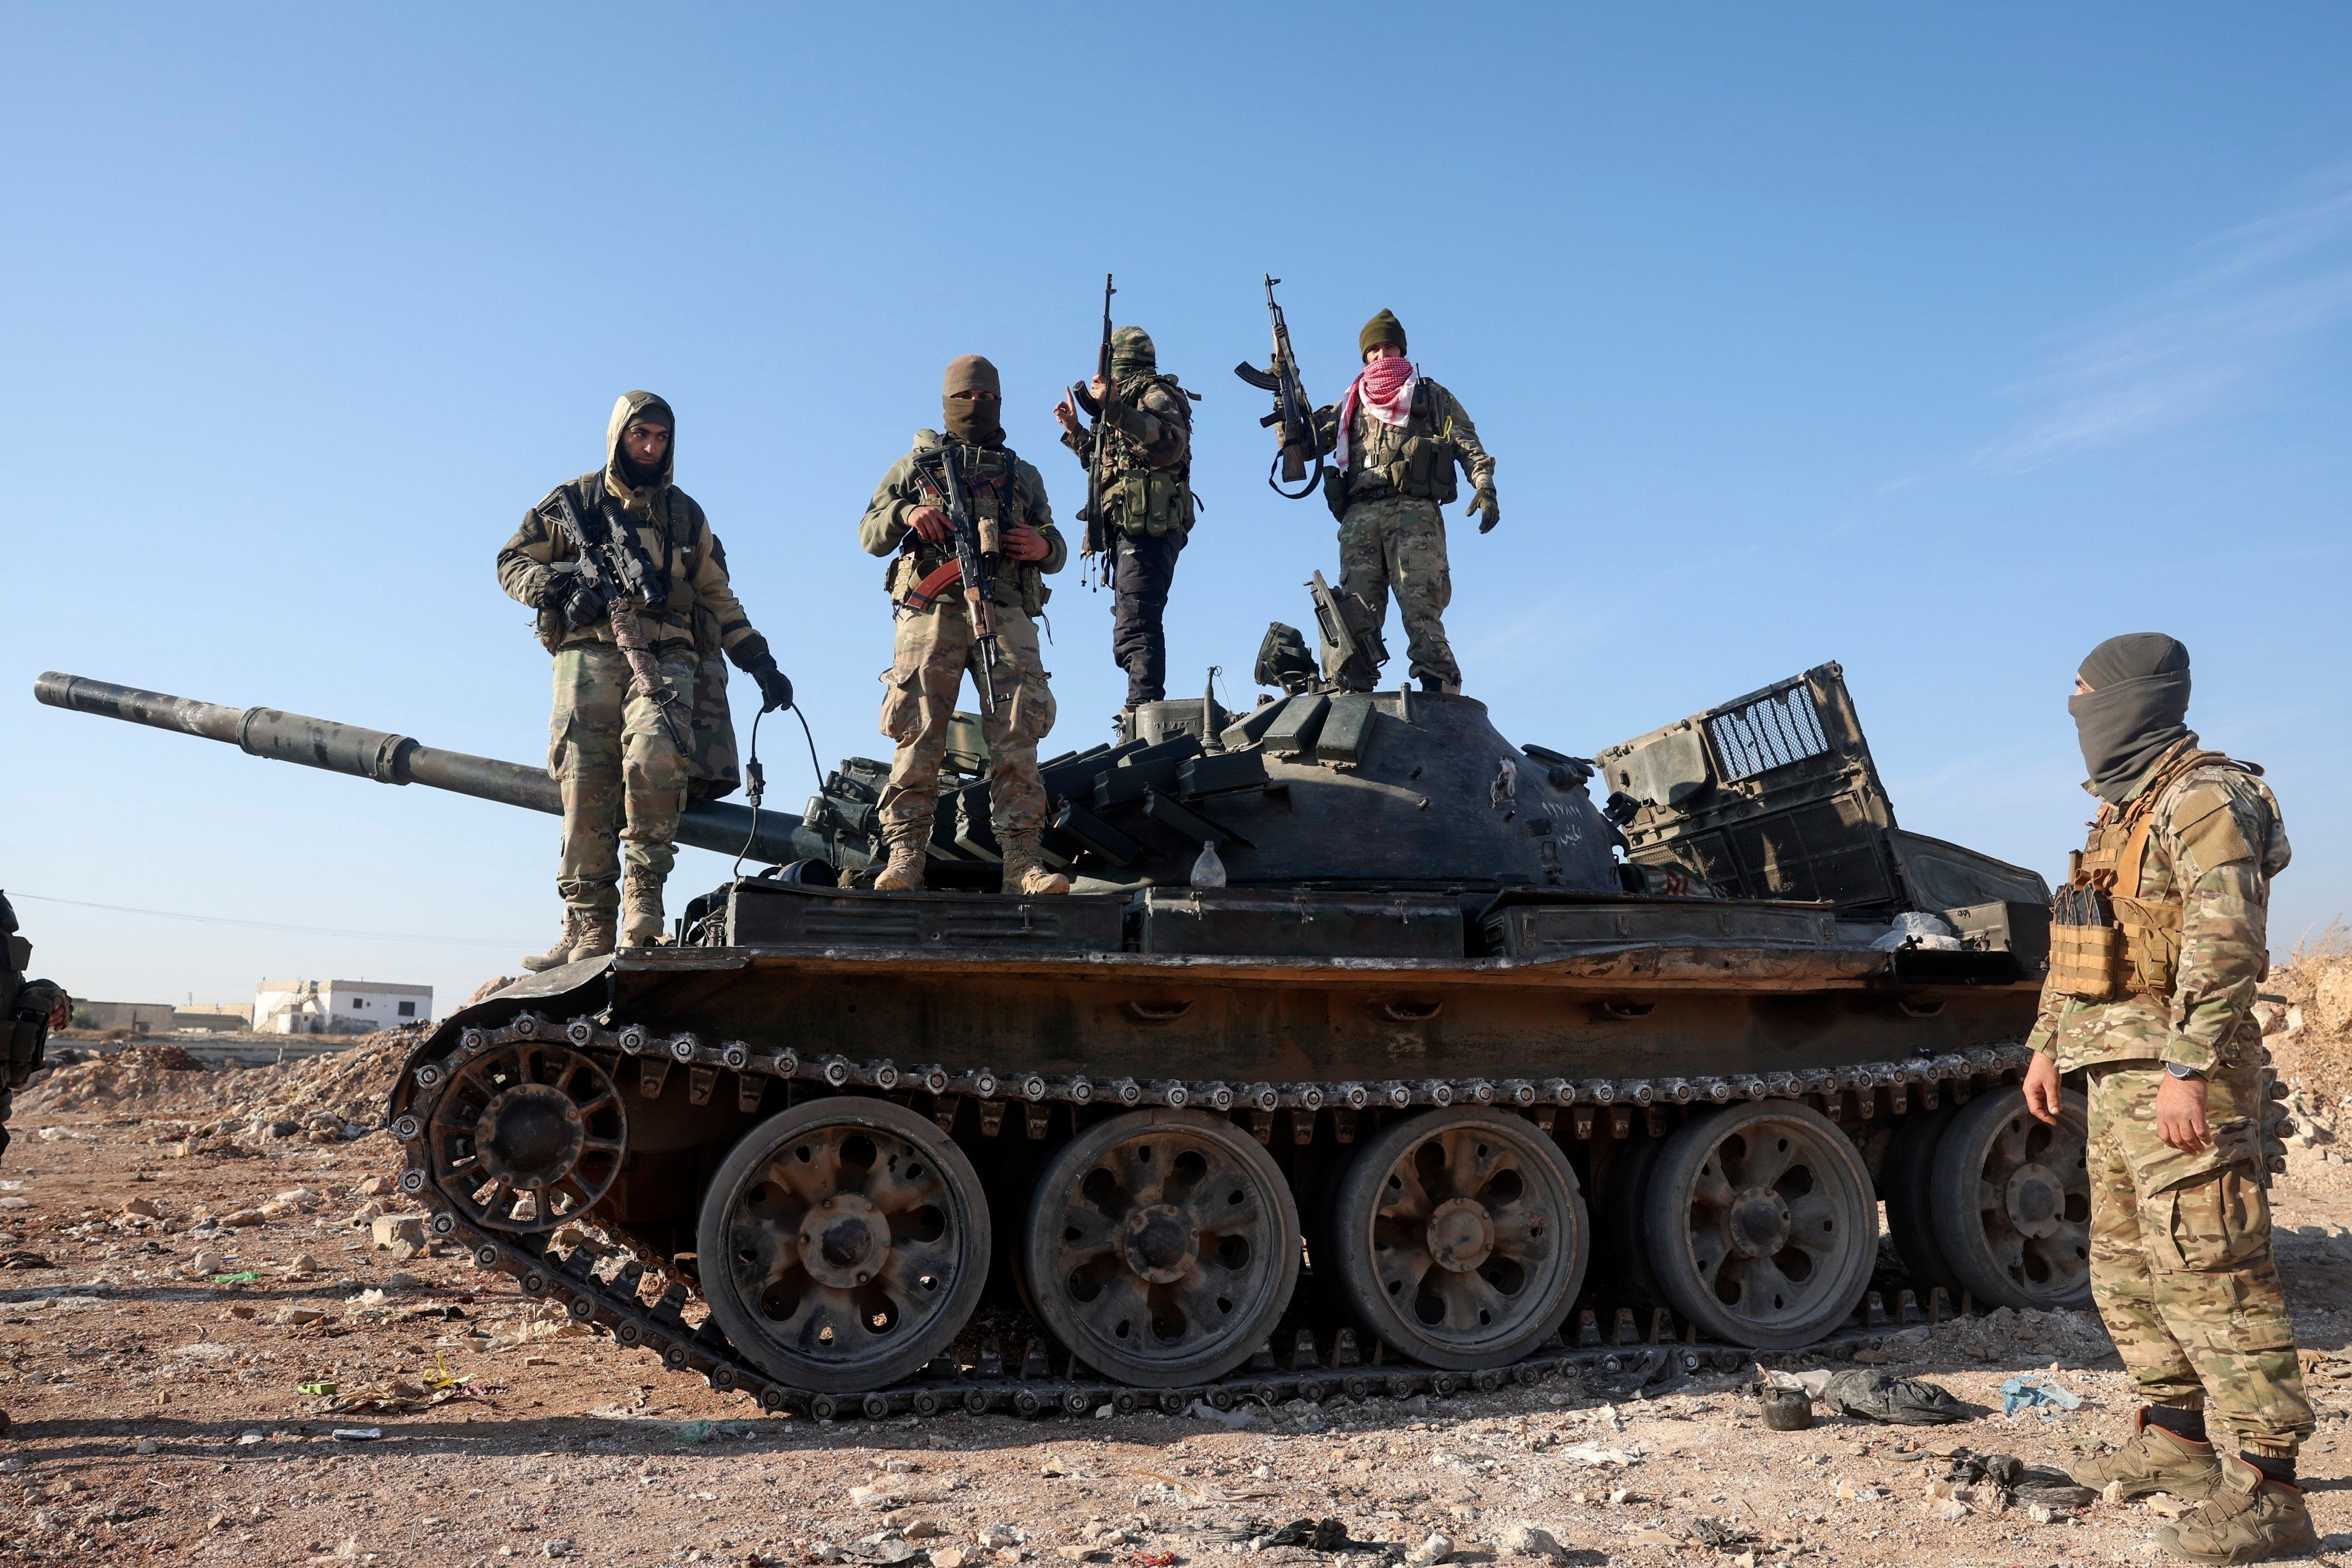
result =
[[[877,811],[889,865],[875,879],[884,893],[922,886],[922,863],[938,811],[938,764],[964,670],[978,684],[978,644],[962,583],[938,585],[922,602],[917,585],[955,562],[946,512],[943,463],[955,463],[983,534],[995,534],[990,581],[997,623],[997,708],[981,715],[988,741],[988,818],[1004,851],[1007,893],[1068,893],[1070,879],[1047,870],[1044,780],[1037,741],[1054,729],[1054,691],[1037,651],[1037,623],[1051,590],[1047,571],[1070,555],[1044,498],[1044,480],[1004,444],[997,367],[978,355],[948,364],[948,433],[917,430],[915,449],[891,463],[858,524],[868,555],[889,555],[884,588],[896,611],[896,658],[882,675],[882,733],[898,743]]]

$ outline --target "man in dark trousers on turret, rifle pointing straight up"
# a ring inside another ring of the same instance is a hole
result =
[[[1103,442],[1103,548],[1110,552],[1110,654],[1127,670],[1127,708],[1167,696],[1169,639],[1162,616],[1176,581],[1176,552],[1192,534],[1192,395],[1162,376],[1141,327],[1110,334],[1110,378],[1120,383],[1112,433]],[[1103,397],[1103,378],[1094,378]],[[1080,463],[1094,440],[1068,400],[1054,404],[1061,444]]]

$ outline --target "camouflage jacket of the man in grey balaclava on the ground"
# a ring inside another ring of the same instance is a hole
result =
[[[2147,780],[2194,745],[2190,736],[2164,752]],[[2138,792],[2122,806],[2133,799]],[[2093,846],[2114,820],[2117,806],[2103,806],[2091,823]],[[2279,802],[2258,769],[2206,762],[2173,778],[2154,802],[2140,853],[2140,898],[2180,905],[2171,994],[2084,1001],[2056,990],[2053,973],[2027,1044],[2053,1056],[2060,1072],[2154,1060],[2213,1072],[2260,1060],[2253,999],[2270,973],[2270,882],[2288,856]]]

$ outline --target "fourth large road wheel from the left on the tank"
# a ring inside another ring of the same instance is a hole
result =
[[[1853,1314],[1879,1255],[1870,1171],[1811,1105],[1691,1117],[1649,1173],[1649,1265],[1705,1333],[1752,1349],[1811,1345]]]

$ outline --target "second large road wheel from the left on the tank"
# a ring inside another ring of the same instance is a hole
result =
[[[1037,1175],[1030,1302],[1080,1361],[1148,1389],[1223,1378],[1298,1284],[1298,1204],[1258,1140],[1197,1110],[1096,1121]]]

